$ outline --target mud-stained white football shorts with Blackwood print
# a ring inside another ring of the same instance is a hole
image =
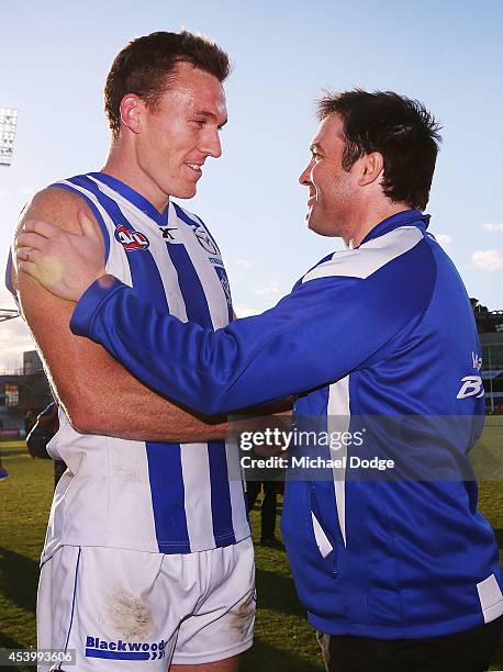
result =
[[[38,649],[75,649],[75,667],[157,672],[224,660],[252,646],[252,539],[188,555],[64,546],[44,563]]]

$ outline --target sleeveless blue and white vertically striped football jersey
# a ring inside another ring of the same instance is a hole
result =
[[[210,329],[227,325],[225,268],[199,217],[175,203],[159,214],[101,172],[52,187],[86,201],[103,234],[107,270],[138,299]],[[60,411],[49,451],[68,471],[55,492],[43,559],[63,544],[188,553],[249,536],[237,450],[223,440],[179,445],[81,435]]]

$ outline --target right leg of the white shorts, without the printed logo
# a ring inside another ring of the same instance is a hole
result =
[[[232,659],[253,643],[256,598],[252,539],[205,551],[200,572],[205,593],[193,614],[180,624],[172,669],[235,670],[237,662]],[[210,663],[214,667],[209,668]]]

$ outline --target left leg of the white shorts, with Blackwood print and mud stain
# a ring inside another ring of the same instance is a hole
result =
[[[172,605],[158,579],[161,561],[160,553],[113,548],[57,550],[41,572],[38,648],[75,649],[82,672],[124,664],[165,672],[186,605]]]

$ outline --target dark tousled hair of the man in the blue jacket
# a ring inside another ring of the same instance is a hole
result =
[[[365,154],[379,152],[385,195],[417,210],[426,208],[441,136],[423,103],[393,91],[355,89],[328,92],[318,101],[317,114],[320,121],[329,114],[343,120],[345,170]]]

